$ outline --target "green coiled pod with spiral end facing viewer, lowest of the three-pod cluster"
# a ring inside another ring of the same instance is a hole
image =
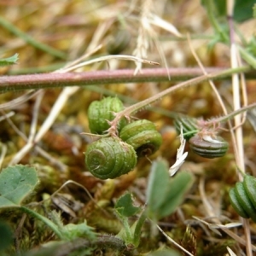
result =
[[[137,154],[131,145],[118,137],[102,137],[87,148],[85,165],[95,177],[115,178],[137,165]]]

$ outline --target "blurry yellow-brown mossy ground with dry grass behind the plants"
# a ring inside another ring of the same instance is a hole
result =
[[[31,36],[35,40],[35,44],[27,42],[24,35],[15,35],[8,27],[2,27],[1,56],[8,57],[18,53],[19,61],[17,65],[1,67],[0,73],[15,75],[54,72],[65,66],[68,61],[79,58],[99,44],[102,44],[102,49],[92,57],[108,55],[108,40],[121,26],[125,26],[131,33],[131,41],[122,54],[133,55],[134,50],[137,49],[137,38],[141,36],[138,27],[141,26],[140,11],[143,8],[143,1],[135,1],[137,5],[132,8],[131,3],[133,2],[110,0],[2,1],[0,3],[2,19],[9,20],[17,29]],[[149,12],[160,15],[162,19],[172,23],[183,35],[190,33],[193,36],[191,45],[205,67],[230,67],[229,45],[216,44],[212,49],[208,47],[209,42],[214,38],[214,32],[200,1],[152,1],[150,4],[152,6],[148,8]],[[250,26],[250,20],[246,24],[241,24],[241,32],[244,32],[244,36],[248,38],[251,36],[249,34]],[[153,27],[157,45],[153,44],[154,41],[149,40],[150,34],[147,35],[148,42],[151,42],[147,49],[148,60],[158,61],[161,67],[165,67],[164,61],[160,57],[158,49],[160,48],[168,67],[198,67],[186,38],[178,39],[158,26]],[[253,33],[253,29],[251,33]],[[99,38],[95,37],[96,34]],[[209,37],[207,38],[207,36]],[[58,52],[42,50],[37,47],[37,42],[44,43]],[[142,45],[141,49],[143,47]],[[84,67],[83,71],[108,70],[108,68],[135,69],[135,67],[132,61],[113,60]],[[148,66],[143,64],[143,67]],[[256,97],[254,83],[253,80],[247,81],[247,101],[249,103],[253,102]],[[154,112],[147,108],[135,114],[137,119],[149,119],[157,126],[163,137],[160,150],[150,157],[150,160],[140,159],[136,169],[128,175],[114,181],[101,181],[92,177],[84,165],[84,151],[91,142],[91,137],[80,133],[89,132],[88,106],[90,102],[99,100],[102,96],[113,94],[119,96],[125,106],[129,106],[132,102],[153,96],[172,84],[177,84],[177,82],[172,82],[172,78],[170,82],[165,83],[105,84],[80,88],[70,96],[54,124],[37,143],[39,148],[48,153],[48,156],[45,156],[40,149],[32,147],[29,153],[20,160],[20,164],[36,166],[38,170],[40,184],[32,195],[32,201],[42,201],[70,179],[84,186],[90,196],[77,185],[68,184],[55,196],[55,200],[45,205],[44,208],[39,207],[38,211],[47,215],[48,211],[56,209],[61,212],[65,224],[80,223],[85,218],[87,223],[96,229],[96,232],[117,234],[121,224],[113,213],[114,201],[126,190],[130,190],[134,194],[137,204],[143,205],[151,161],[162,157],[172,166],[176,160],[179,139],[173,128],[173,119],[170,118],[173,112],[186,113],[191,117],[203,117],[204,119],[216,117],[223,112],[208,83],[178,90],[170,96],[161,98],[151,107],[170,111],[170,115],[166,115],[164,111],[162,113]],[[215,84],[227,109],[231,111],[231,81],[219,80]],[[6,152],[2,153],[2,167],[8,166],[20,149],[26,145],[26,138],[31,133],[32,121],[35,119],[36,113],[38,114],[38,124],[35,125],[35,128],[38,131],[60,96],[61,90],[45,90],[43,100],[38,108],[34,107],[37,97],[33,96],[19,105],[10,105],[9,108],[1,109],[2,116],[11,111],[14,112],[9,120],[3,119],[0,125],[2,152],[4,152],[3,148],[6,148]],[[14,91],[1,94],[0,103],[10,102],[24,93],[25,91]],[[227,128],[227,126],[225,127]],[[197,252],[197,255],[225,255],[227,246],[231,247],[237,255],[241,255],[241,251],[245,251],[244,246],[238,245],[224,232],[222,232],[222,236],[218,236],[209,230],[207,225],[201,224],[193,218],[196,216],[206,219],[208,223],[217,221],[222,224],[239,221],[238,215],[230,207],[228,199],[228,191],[237,181],[234,148],[230,133],[221,131],[221,135],[230,143],[228,154],[219,159],[207,160],[189,151],[189,156],[182,169],[195,174],[195,184],[177,212],[160,220],[160,227],[165,230],[166,234],[185,248],[191,244],[188,238],[184,238],[186,228],[190,225],[193,237],[191,239],[195,241],[192,242],[194,248],[190,247],[190,249],[194,253]],[[246,172],[255,176],[255,131],[247,121],[243,124],[243,144]],[[186,150],[189,150],[189,146],[186,147]],[[63,205],[63,201],[68,202],[66,206]],[[102,207],[103,211],[96,206]],[[12,224],[14,230],[18,229],[22,219],[21,213],[3,212],[1,215]],[[251,223],[250,227],[252,243],[255,244],[256,226]],[[52,236],[49,230],[45,230],[42,224],[29,217],[26,217],[19,230],[19,236],[16,234],[17,237],[15,237],[16,241],[19,241],[18,246],[16,244],[17,250],[29,250],[47,241],[55,240],[55,236]],[[237,236],[244,238],[242,227],[233,231]],[[160,247],[175,248],[160,233],[152,235],[151,232],[151,225],[146,222],[141,237],[142,242],[133,252],[134,255],[149,253]],[[15,246],[13,251],[15,251]],[[102,253],[107,255],[113,251],[102,251]]]

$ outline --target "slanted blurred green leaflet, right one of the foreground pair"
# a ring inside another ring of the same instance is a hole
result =
[[[190,189],[193,180],[194,178],[189,172],[178,172],[177,175],[171,179],[165,201],[163,201],[158,211],[159,218],[166,217],[177,209],[183,202],[184,196]]]

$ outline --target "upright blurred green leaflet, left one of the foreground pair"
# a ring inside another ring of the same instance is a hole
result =
[[[151,167],[146,192],[148,212],[155,212],[165,201],[169,186],[169,167],[166,160],[155,160]],[[150,215],[150,213],[149,213]]]

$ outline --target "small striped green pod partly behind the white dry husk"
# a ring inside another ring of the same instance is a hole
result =
[[[196,119],[190,118],[184,114],[178,114],[174,119],[174,126],[177,134],[180,134],[180,124],[183,125],[183,137],[185,140],[189,140],[198,132],[198,126],[196,125]]]

